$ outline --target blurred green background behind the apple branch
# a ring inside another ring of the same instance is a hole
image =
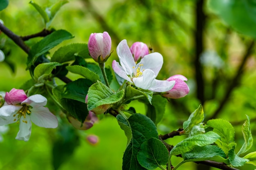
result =
[[[35,2],[48,7],[57,1]],[[241,126],[245,115],[251,117],[252,134],[256,136],[254,41],[225,24],[207,3],[207,0],[70,0],[56,15],[52,27],[65,29],[75,37],[50,52],[64,44],[87,43],[90,33],[108,31],[113,50],[107,62],[110,65],[112,60],[117,60],[116,46],[121,40],[127,39],[129,45],[145,42],[164,56],[164,65],[157,78],[182,74],[188,78],[190,88],[186,97],[168,102],[165,116],[157,126],[159,134],[182,127],[182,122],[201,103],[205,121],[223,118],[231,122],[236,129],[239,149],[243,145]],[[22,36],[40,32],[44,27],[29,0],[10,0],[9,6],[0,11],[0,19]],[[40,38],[26,43],[31,46],[38,40]],[[3,33],[0,34],[0,48],[8,53],[0,63],[0,91],[19,88],[30,78],[25,71],[27,55]],[[50,103],[48,106],[54,112],[55,106]],[[129,106],[135,107],[138,113],[145,113],[140,103],[132,102]],[[63,116],[59,116],[59,121],[57,129],[33,125],[28,142],[15,140],[18,126],[11,124],[0,143],[0,169],[53,170],[54,160],[58,170],[121,170],[126,136],[115,117],[100,116],[100,121],[86,131],[75,130]],[[99,137],[96,146],[86,141],[85,137],[90,134]],[[167,142],[175,145],[182,139],[184,137],[178,136]],[[53,148],[59,154],[52,154]],[[256,151],[255,142],[250,151]],[[174,158],[173,164],[181,160]],[[254,168],[245,165],[240,169]],[[207,170],[209,167],[185,163],[179,169]]]

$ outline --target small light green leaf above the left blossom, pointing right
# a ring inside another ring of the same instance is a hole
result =
[[[42,63],[38,64],[34,70],[34,77],[35,79],[38,79],[39,77],[48,76],[52,73],[53,69],[56,68],[56,66],[60,66],[61,64],[58,62],[48,62],[48,63]]]

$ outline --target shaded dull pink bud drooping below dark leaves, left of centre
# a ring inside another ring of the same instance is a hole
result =
[[[76,118],[72,116],[67,117],[68,121],[74,126],[74,128],[79,129],[79,130],[87,130],[90,129],[93,124],[98,121],[98,118],[94,113],[89,111],[88,116],[86,117],[85,121],[83,124],[81,124],[81,121],[77,120]]]

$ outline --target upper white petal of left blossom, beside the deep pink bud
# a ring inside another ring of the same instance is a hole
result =
[[[32,107],[45,106],[47,104],[47,99],[42,95],[32,95],[25,99],[21,104],[26,104],[27,106]]]

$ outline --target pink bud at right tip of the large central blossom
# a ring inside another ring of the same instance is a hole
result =
[[[169,82],[173,80],[175,80],[175,85],[163,96],[172,99],[178,99],[186,96],[189,93],[189,86],[184,81],[187,81],[188,79],[183,75],[173,75],[167,79]]]

